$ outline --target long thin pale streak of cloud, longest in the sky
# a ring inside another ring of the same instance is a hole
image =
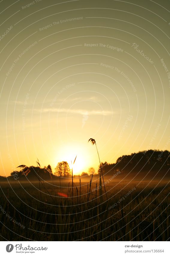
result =
[[[58,109],[58,108],[44,108],[44,109],[34,109],[37,113],[47,113],[47,112],[55,112],[55,113],[70,113],[70,114],[80,114],[80,115],[112,115],[112,111],[108,110],[90,110],[87,109]]]

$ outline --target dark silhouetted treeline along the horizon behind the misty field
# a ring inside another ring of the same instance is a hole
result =
[[[39,166],[38,166],[39,165]],[[34,180],[37,177],[42,178],[43,180],[50,179],[58,179],[58,177],[70,178],[71,170],[67,162],[59,162],[55,167],[55,172],[52,172],[52,168],[50,165],[43,168],[40,167],[40,164],[35,166],[20,166],[21,169],[18,171],[17,169],[11,172],[10,176],[3,177],[0,176],[1,181],[15,181],[18,179],[21,180]],[[116,163],[109,164],[107,162],[101,163],[102,172],[105,175],[113,175],[118,170],[121,173],[133,173],[133,172],[147,172],[152,171],[155,172],[157,170],[161,170],[162,172],[169,173],[170,168],[170,151],[164,150],[147,150],[147,151],[139,151],[138,153],[132,153],[131,155],[123,155],[120,156]],[[100,170],[100,166],[98,172]],[[86,176],[92,174],[94,168],[89,168],[88,172],[83,172],[81,176]],[[75,176],[74,177],[78,177]]]

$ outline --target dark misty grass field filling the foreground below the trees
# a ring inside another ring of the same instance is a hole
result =
[[[1,241],[166,241],[167,180],[1,182]],[[107,182],[108,181],[108,182]],[[70,183],[69,183],[70,182]],[[97,185],[96,185],[97,182]],[[69,184],[69,188],[68,188]]]

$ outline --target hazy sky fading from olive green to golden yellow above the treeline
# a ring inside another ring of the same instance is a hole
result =
[[[169,150],[169,1],[0,2],[0,175]]]

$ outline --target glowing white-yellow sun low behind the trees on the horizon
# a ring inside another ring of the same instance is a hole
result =
[[[77,157],[76,157],[77,156]],[[57,156],[57,161],[67,161],[70,166],[70,169],[73,167],[73,175],[80,175],[82,172],[87,172],[87,166],[85,163],[85,158],[87,153],[83,148],[66,146],[60,149],[60,152]],[[73,164],[76,157],[76,161]]]

